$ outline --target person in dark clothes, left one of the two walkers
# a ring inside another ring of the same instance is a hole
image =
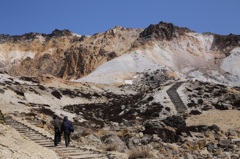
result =
[[[52,124],[54,126],[54,146],[57,146],[61,142],[61,121],[57,118],[57,115],[53,116]]]

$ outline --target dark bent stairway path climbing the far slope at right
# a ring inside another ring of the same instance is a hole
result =
[[[176,110],[178,113],[184,113],[187,108],[185,107],[182,99],[180,98],[177,89],[183,84],[184,82],[177,82],[175,83],[172,87],[170,87],[167,90],[167,94],[170,97],[170,99],[172,100]]]

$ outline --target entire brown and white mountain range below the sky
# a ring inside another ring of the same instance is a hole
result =
[[[92,36],[69,30],[0,36],[1,70],[14,76],[118,83],[167,69],[179,78],[239,85],[240,36],[196,33],[160,22],[145,29],[116,26]]]

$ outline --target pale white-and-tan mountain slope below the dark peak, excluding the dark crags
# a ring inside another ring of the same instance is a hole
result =
[[[211,50],[213,35],[187,33],[180,40],[155,42],[152,48],[129,52],[99,66],[91,74],[76,80],[103,84],[124,83],[139,72],[168,69],[181,78],[238,85],[239,49],[229,57]],[[221,60],[223,59],[223,61]],[[226,75],[226,72],[230,73]]]

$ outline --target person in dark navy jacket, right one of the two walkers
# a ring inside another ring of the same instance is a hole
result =
[[[66,147],[68,147],[68,145],[70,143],[70,135],[71,135],[71,132],[73,132],[73,131],[74,131],[74,128],[73,128],[72,122],[70,120],[68,120],[67,116],[65,116],[63,118],[63,123],[61,126],[61,132],[64,133]]]

